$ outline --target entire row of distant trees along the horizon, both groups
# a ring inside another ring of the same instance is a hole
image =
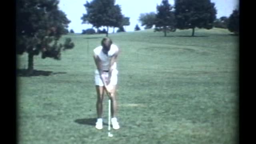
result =
[[[121,7],[115,4],[115,0],[92,0],[84,4],[86,14],[81,17],[83,24],[92,24],[93,28],[82,30],[82,34],[106,34],[108,29],[118,28],[117,32],[125,32],[124,27],[130,25],[130,18],[122,14]],[[139,21],[144,29],[154,26],[155,32],[175,32],[176,29],[192,29],[192,36],[195,35],[195,28],[211,29],[228,28],[230,32],[239,32],[239,10],[234,10],[229,18],[222,16],[216,18],[217,10],[211,0],[174,0],[174,6],[168,0],[162,0],[156,6],[156,13],[149,12],[140,14]],[[99,28],[106,28],[103,32]],[[135,26],[134,30],[140,30]]]

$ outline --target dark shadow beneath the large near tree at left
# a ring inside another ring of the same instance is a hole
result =
[[[52,72],[44,70],[33,70],[32,74],[28,74],[27,69],[16,70],[16,76],[29,77],[29,76],[50,76],[54,74],[66,74],[67,72]]]

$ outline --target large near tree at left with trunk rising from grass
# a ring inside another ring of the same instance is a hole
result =
[[[58,9],[58,0],[16,1],[16,53],[28,53],[27,74],[34,72],[34,56],[60,60],[63,45],[58,44],[68,32],[66,14]]]

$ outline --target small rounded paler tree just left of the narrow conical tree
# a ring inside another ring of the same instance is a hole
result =
[[[154,26],[156,19],[156,13],[150,12],[150,13],[144,13],[140,14],[139,21],[141,22],[141,26],[145,26],[144,29],[149,29]]]

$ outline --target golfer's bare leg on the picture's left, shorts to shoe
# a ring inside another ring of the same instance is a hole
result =
[[[103,86],[96,86],[97,92],[97,102],[96,102],[96,109],[98,118],[102,118],[102,101],[104,98],[104,87]]]

